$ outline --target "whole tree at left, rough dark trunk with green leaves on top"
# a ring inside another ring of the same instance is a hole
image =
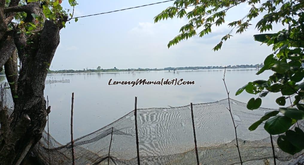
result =
[[[44,83],[60,29],[71,20],[61,3],[0,0],[0,68],[5,68],[14,102],[11,115],[3,103],[0,107],[0,164],[19,165],[42,136],[50,113],[43,96]],[[74,12],[76,1],[68,3]]]

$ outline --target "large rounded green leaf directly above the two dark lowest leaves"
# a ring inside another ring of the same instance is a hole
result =
[[[271,135],[286,132],[292,126],[292,120],[286,116],[275,116],[265,122],[264,129]]]

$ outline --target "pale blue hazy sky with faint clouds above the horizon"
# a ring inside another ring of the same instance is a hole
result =
[[[108,12],[164,0],[78,0],[75,16]],[[65,0],[63,3],[67,3]],[[171,6],[166,2],[110,14],[80,18],[71,21],[61,30],[60,45],[51,64],[51,70],[118,68],[164,68],[184,66],[224,66],[257,64],[272,51],[255,42],[255,19],[250,29],[223,44],[222,49],[212,48],[230,31],[228,23],[239,20],[250,7],[239,5],[227,13],[226,25],[212,29],[203,38],[194,37],[167,48],[168,41],[179,33],[187,19],[169,19],[154,24],[154,17]],[[67,8],[67,6],[66,6]],[[189,10],[191,8],[188,8]],[[274,27],[277,31],[279,27]]]

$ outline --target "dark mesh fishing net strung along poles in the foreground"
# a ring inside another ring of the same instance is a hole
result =
[[[273,164],[270,135],[263,125],[252,132],[248,127],[274,109],[251,111],[245,103],[233,99],[230,99],[230,103],[244,164]],[[198,157],[202,165],[240,163],[233,123],[226,107],[228,99],[193,104]],[[106,165],[109,161],[111,165],[137,165],[135,120],[133,110],[115,122],[75,139],[75,164]],[[190,105],[138,109],[137,124],[140,164],[197,164]],[[299,127],[303,130],[303,121],[299,121]],[[277,136],[273,136],[273,140],[277,164],[295,165],[303,162],[303,151],[292,156],[279,150]],[[71,151],[71,143],[62,145],[44,132],[33,153],[46,165],[71,165]]]

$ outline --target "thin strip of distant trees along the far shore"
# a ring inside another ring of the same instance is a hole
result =
[[[257,65],[235,65],[235,66],[226,66],[227,69],[237,69],[237,68],[257,68],[263,67],[263,64]],[[131,71],[159,71],[159,70],[197,70],[197,69],[224,69],[225,66],[195,66],[195,67],[168,67],[163,69],[150,69],[150,68],[138,68],[138,69],[117,69],[116,67],[113,69],[101,69],[98,67],[97,69],[83,69],[83,70],[49,70],[48,73],[92,73],[92,72],[131,72]]]

